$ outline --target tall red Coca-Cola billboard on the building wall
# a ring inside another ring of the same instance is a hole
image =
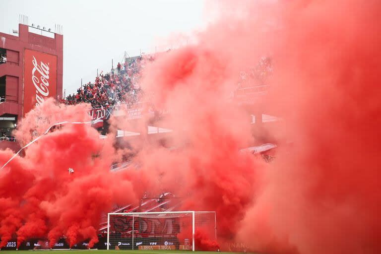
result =
[[[57,96],[57,56],[35,50],[24,51],[25,116],[36,105]]]

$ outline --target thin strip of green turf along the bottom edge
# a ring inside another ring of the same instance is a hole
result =
[[[5,254],[234,254],[233,252],[191,251],[114,251],[114,250],[71,250],[71,251],[1,251]]]

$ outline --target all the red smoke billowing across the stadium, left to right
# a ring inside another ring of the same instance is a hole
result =
[[[243,242],[265,253],[380,253],[381,4],[240,3],[220,3],[220,19],[196,44],[144,70],[141,86],[156,107],[170,110],[155,125],[173,129],[166,142],[180,148],[170,151],[144,134],[134,144],[141,166],[111,173],[122,154],[114,134],[99,139],[89,125],[70,124],[49,133],[0,172],[0,247],[14,234],[19,241],[48,236],[51,246],[63,235],[70,246],[93,245],[100,215],[113,204],[166,190],[182,197],[181,209],[216,211],[225,249]],[[229,98],[239,72],[261,56],[274,61],[268,95],[254,107],[237,106]],[[87,109],[45,103],[23,120],[17,138],[27,143],[34,129],[88,121]],[[282,121],[254,129],[252,111]],[[273,163],[238,152],[262,142],[253,131],[278,140]],[[2,151],[0,161],[11,155]],[[214,248],[207,237],[197,239]]]

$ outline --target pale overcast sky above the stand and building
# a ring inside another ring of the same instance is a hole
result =
[[[17,29],[19,14],[53,31],[62,24],[68,95],[81,78],[94,81],[97,68],[109,71],[112,59],[116,66],[125,51],[132,57],[175,47],[177,39],[167,38],[206,26],[203,7],[203,0],[0,0],[0,32]]]

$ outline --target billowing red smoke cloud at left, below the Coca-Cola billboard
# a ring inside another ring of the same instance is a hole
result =
[[[48,101],[26,116],[16,137],[27,141],[32,130],[45,125],[45,131],[64,120],[87,122],[87,110],[86,105],[66,107]],[[33,121],[37,117],[39,122]],[[70,246],[90,239],[92,247],[98,241],[100,215],[137,198],[130,181],[110,172],[118,159],[112,139],[100,139],[89,124],[62,125],[1,170],[0,246],[16,233],[18,245],[30,237],[48,237],[52,247],[65,235]],[[1,163],[10,155],[2,151]],[[74,173],[69,174],[68,168]]]

